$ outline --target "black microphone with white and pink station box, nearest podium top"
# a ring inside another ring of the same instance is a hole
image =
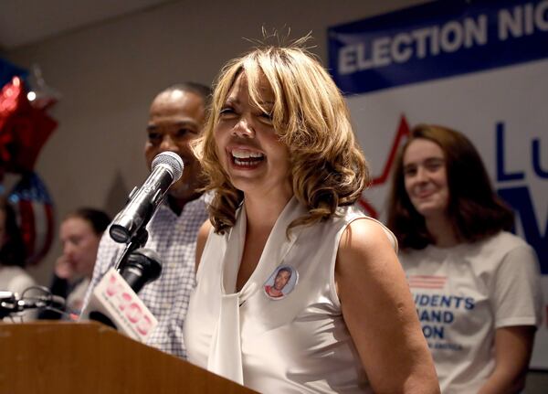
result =
[[[158,321],[137,293],[146,283],[158,279],[161,272],[160,258],[154,250],[132,251],[121,265],[121,272],[112,267],[101,278],[80,320],[96,320],[146,342]]]

